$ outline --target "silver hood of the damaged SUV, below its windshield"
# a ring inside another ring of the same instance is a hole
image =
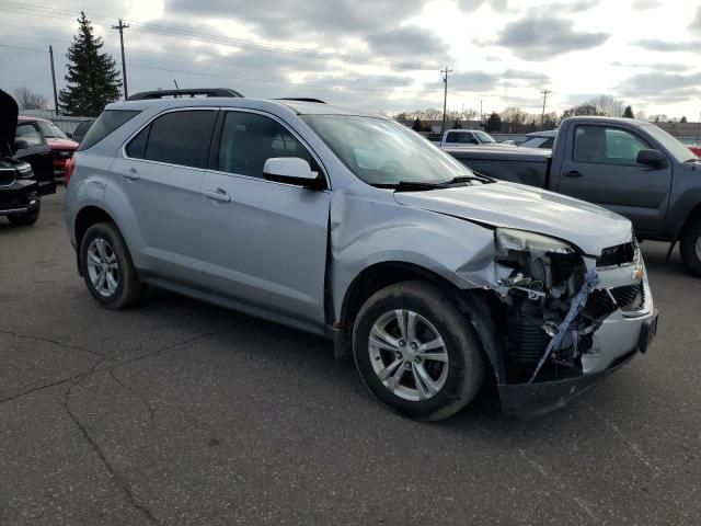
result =
[[[631,240],[631,221],[583,201],[516,183],[395,192],[398,203],[462,219],[544,233],[586,254]]]

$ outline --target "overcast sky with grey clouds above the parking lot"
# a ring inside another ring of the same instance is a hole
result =
[[[0,87],[51,100],[84,10],[131,93],[230,87],[246,96],[315,96],[395,113],[443,105],[550,111],[611,94],[635,111],[701,112],[701,0],[0,0]],[[32,3],[37,2],[37,3]],[[44,4],[46,5],[46,4]],[[12,20],[12,22],[9,22]],[[9,22],[9,23],[8,23]],[[14,46],[14,47],[8,47]],[[18,49],[18,47],[23,49]],[[119,67],[120,62],[118,61]]]

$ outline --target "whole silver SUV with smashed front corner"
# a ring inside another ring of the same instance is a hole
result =
[[[471,172],[379,115],[122,102],[74,163],[66,222],[100,304],[148,284],[325,335],[415,419],[487,377],[507,413],[562,407],[655,334],[628,219]]]

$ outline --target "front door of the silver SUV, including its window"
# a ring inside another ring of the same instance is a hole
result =
[[[202,186],[204,278],[250,307],[323,327],[330,194],[263,179],[274,157],[311,150],[274,116],[222,111]]]

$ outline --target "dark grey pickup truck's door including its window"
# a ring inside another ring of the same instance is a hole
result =
[[[637,164],[637,152],[651,148],[630,128],[577,124],[567,137],[554,190],[628,217],[639,232],[655,233],[667,210],[671,163],[659,169]]]

